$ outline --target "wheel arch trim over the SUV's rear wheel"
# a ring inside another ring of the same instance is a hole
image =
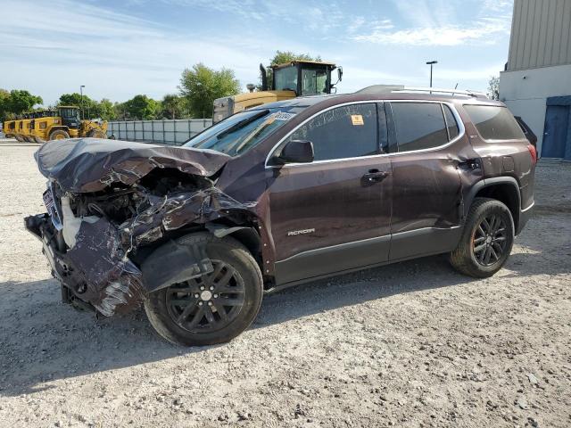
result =
[[[521,191],[514,177],[492,177],[478,181],[468,193],[464,216],[468,215],[470,205],[475,198],[492,198],[505,204],[514,219],[514,230],[519,230],[519,214],[521,211]]]

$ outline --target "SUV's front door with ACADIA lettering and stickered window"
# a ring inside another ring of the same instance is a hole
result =
[[[387,261],[392,177],[379,155],[383,103],[329,109],[289,139],[311,141],[315,161],[269,170],[277,284]]]

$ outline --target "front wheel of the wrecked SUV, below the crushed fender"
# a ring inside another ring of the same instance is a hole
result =
[[[201,232],[177,242],[206,245],[214,272],[152,292],[145,300],[149,322],[161,337],[175,344],[203,346],[231,341],[252,324],[260,310],[263,282],[258,264],[244,245],[229,236],[218,239]],[[226,285],[222,284],[230,275]],[[232,306],[226,306],[227,302]],[[185,317],[184,321],[178,321],[180,317]]]

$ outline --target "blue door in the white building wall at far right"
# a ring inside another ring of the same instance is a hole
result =
[[[545,111],[542,158],[564,158],[569,129],[569,106],[548,105]]]

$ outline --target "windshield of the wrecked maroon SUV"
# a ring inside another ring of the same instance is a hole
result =
[[[283,106],[242,111],[204,130],[184,145],[237,156],[259,144],[266,136],[284,126],[289,119],[304,108]]]

